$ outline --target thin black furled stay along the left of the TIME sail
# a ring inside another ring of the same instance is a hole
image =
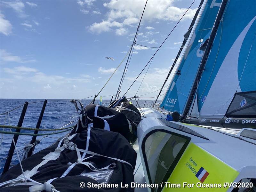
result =
[[[195,13],[195,15],[194,15],[194,18],[193,18],[193,20],[191,21],[191,24],[190,24],[190,26],[189,26],[189,28],[188,28],[188,31],[187,31],[187,32],[185,33],[185,35],[184,35],[184,40],[183,40],[183,42],[182,42],[182,44],[181,44],[181,46],[180,46],[180,50],[179,50],[179,52],[178,52],[178,54],[177,54],[175,60],[173,61],[172,67],[171,67],[171,69],[170,69],[170,71],[169,71],[169,73],[168,73],[168,75],[167,75],[167,77],[166,77],[166,79],[165,79],[165,81],[164,81],[164,84],[163,84],[163,86],[162,86],[160,92],[158,93],[158,96],[157,96],[157,98],[156,98],[156,101],[157,101],[158,97],[160,96],[160,94],[161,94],[161,92],[162,92],[162,90],[163,90],[163,88],[164,88],[164,85],[166,84],[166,82],[167,82],[169,76],[171,75],[171,72],[172,72],[172,70],[173,70],[173,68],[174,68],[174,66],[175,66],[175,64],[176,64],[176,62],[177,62],[177,60],[178,60],[179,57],[180,57],[181,51],[183,50],[185,44],[186,44],[187,41],[188,41],[188,37],[190,36],[190,33],[191,33],[192,28],[193,28],[193,26],[194,26],[194,24],[195,24],[195,22],[196,22],[196,18],[197,18],[197,16],[198,16],[198,13],[199,13],[199,11],[200,11],[200,9],[201,9],[203,3],[204,3],[204,0],[201,0],[200,4],[199,4],[199,6],[198,6],[198,9],[197,9],[197,11],[196,11],[196,13]],[[156,103],[156,101],[155,101],[155,103]]]

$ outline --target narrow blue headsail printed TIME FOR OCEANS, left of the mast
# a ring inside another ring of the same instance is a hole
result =
[[[201,16],[190,35],[187,48],[180,60],[177,73],[173,76],[172,83],[160,105],[161,108],[182,112],[204,53],[199,47],[204,46],[205,41],[210,36],[220,3],[221,0],[207,0],[205,2]]]

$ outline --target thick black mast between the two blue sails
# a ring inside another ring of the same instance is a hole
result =
[[[189,92],[189,96],[188,96],[188,99],[186,101],[185,108],[184,108],[185,110],[184,110],[183,114],[180,116],[181,121],[184,121],[184,119],[188,115],[189,109],[190,109],[191,104],[193,102],[193,99],[195,97],[197,85],[198,85],[198,83],[200,81],[200,78],[202,76],[202,73],[204,71],[205,63],[206,63],[206,60],[207,60],[207,58],[209,56],[209,53],[211,51],[213,40],[216,36],[217,30],[218,30],[218,27],[219,27],[219,24],[220,24],[220,20],[222,18],[222,15],[223,15],[223,12],[225,10],[227,2],[228,2],[228,0],[222,0],[222,2],[221,2],[219,12],[217,14],[216,20],[215,20],[213,28],[212,28],[212,32],[211,32],[209,40],[208,40],[208,44],[206,45],[206,48],[205,48],[205,51],[204,51],[204,54],[203,54],[203,58],[201,60],[199,69],[196,73],[196,78],[194,79],[192,88]]]

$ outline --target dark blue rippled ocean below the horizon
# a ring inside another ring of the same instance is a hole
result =
[[[39,114],[41,112],[41,108],[43,106],[43,101],[42,99],[0,99],[0,114],[10,111],[13,108],[16,108],[22,104],[24,104],[25,101],[28,101],[28,108],[26,111],[26,115],[23,121],[22,126],[23,127],[31,127],[35,128],[36,123],[39,117]],[[42,101],[42,102],[38,102]],[[82,103],[84,107],[88,105],[92,100],[82,100]],[[100,100],[95,100],[94,104],[99,104]],[[110,100],[102,100],[102,105],[108,106],[110,103]],[[136,105],[136,102],[134,102],[134,105]],[[145,100],[139,100],[138,101],[140,107],[144,106]],[[152,103],[152,100],[147,100],[145,103],[145,107],[150,107]],[[22,106],[23,107],[23,106]],[[22,107],[17,108],[9,113],[10,116],[10,124],[17,126],[20,114],[22,111]],[[80,108],[80,106],[79,106]],[[76,120],[78,119],[77,113],[76,113],[76,108],[73,103],[70,102],[70,100],[48,100],[45,111],[44,111],[44,116],[41,122],[41,129],[58,129],[66,124],[68,124],[71,121],[75,121],[72,124],[68,126],[72,126],[76,124]],[[0,124],[4,125],[5,121],[5,114],[0,115]],[[9,125],[9,118],[8,115],[6,116],[6,122],[5,124]],[[0,128],[0,130],[3,130],[3,128]],[[4,128],[4,131],[10,131],[8,128]],[[15,129],[12,129],[14,132]],[[34,131],[30,130],[21,130],[21,132],[24,133],[34,133]],[[52,131],[39,131],[38,133],[50,133]],[[49,135],[48,137],[45,137],[42,139],[44,136],[37,136],[37,140],[40,140],[40,143],[36,145],[34,153],[47,148],[50,146],[52,143],[54,143],[59,137],[66,135],[68,132],[63,132],[59,134],[54,134],[54,135]],[[6,157],[8,155],[8,151],[12,142],[12,137],[13,135],[10,134],[0,134],[0,140],[2,140],[2,144],[0,147],[0,173],[3,171],[4,164]],[[17,149],[19,151],[19,156],[22,156],[23,148],[29,144],[32,136],[25,136],[25,135],[20,135],[18,142],[17,142]],[[11,166],[16,165],[19,163],[18,158],[17,158],[17,153],[14,151],[14,155],[12,157],[12,163]]]

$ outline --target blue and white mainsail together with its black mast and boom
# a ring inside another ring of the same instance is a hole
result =
[[[186,123],[256,127],[256,11],[253,7],[256,1],[223,0],[222,12],[218,13],[221,17],[215,21],[216,27],[185,106]]]

